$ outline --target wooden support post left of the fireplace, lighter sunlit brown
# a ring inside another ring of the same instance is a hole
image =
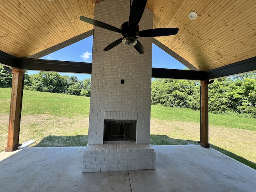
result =
[[[24,73],[22,69],[12,69],[12,96],[6,152],[15,151],[19,146]]]

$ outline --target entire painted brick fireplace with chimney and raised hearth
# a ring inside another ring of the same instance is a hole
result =
[[[104,0],[95,5],[94,19],[120,28],[129,20],[129,8],[130,0]],[[145,8],[140,30],[152,28],[152,23],[153,12]],[[122,43],[109,51],[103,50],[121,37],[94,26],[88,146],[83,156],[83,172],[155,169],[155,152],[150,145],[152,38],[138,38],[145,48],[144,54]],[[106,120],[120,124],[135,122],[135,140],[106,142]]]

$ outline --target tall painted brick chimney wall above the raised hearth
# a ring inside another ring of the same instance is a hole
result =
[[[129,0],[99,2],[95,5],[94,18],[120,28],[129,19],[129,3]],[[153,12],[146,8],[140,30],[152,28],[152,23]],[[134,116],[137,120],[136,143],[150,143],[152,38],[138,38],[146,50],[142,55],[134,47],[122,43],[103,51],[121,37],[119,33],[94,26],[89,145],[103,143],[106,112],[137,114]],[[124,84],[121,84],[121,79],[124,79]],[[110,115],[114,118],[114,113]]]

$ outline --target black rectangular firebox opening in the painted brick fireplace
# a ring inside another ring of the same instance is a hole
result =
[[[106,142],[135,142],[136,120],[104,120]]]

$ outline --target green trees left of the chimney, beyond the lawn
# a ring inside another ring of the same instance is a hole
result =
[[[12,87],[12,73],[4,70],[3,66],[0,66],[0,87]],[[40,71],[32,75],[25,72],[24,89],[90,97],[91,80],[80,81],[76,76],[63,76],[56,72]]]

